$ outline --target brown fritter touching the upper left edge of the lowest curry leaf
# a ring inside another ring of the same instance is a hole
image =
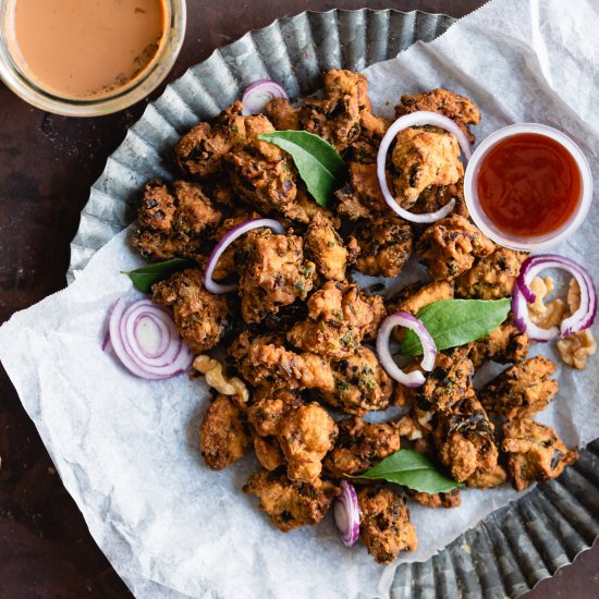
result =
[[[398,425],[393,423],[371,425],[353,416],[338,426],[334,449],[323,462],[327,472],[335,478],[360,474],[401,447]]]

